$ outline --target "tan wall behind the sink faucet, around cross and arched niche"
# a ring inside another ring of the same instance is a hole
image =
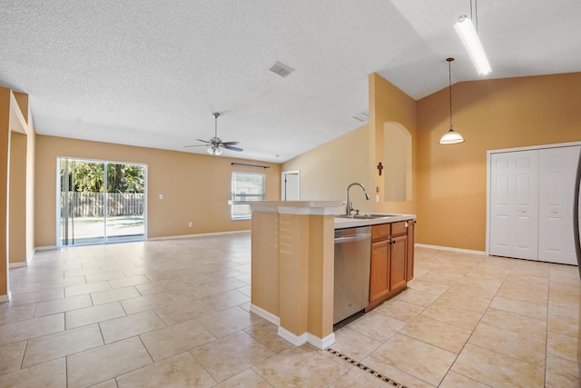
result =
[[[323,144],[289,162],[282,171],[300,170],[300,199],[345,201],[345,190],[352,182],[365,185],[371,200],[365,201],[359,187],[350,191],[353,206],[361,212],[415,214],[416,163],[412,161],[412,195],[409,201],[385,202],[383,175],[377,165],[383,158],[385,123],[398,123],[412,136],[416,154],[416,102],[379,75],[369,75],[369,124]],[[389,168],[389,165],[385,165]],[[376,202],[379,187],[379,203]],[[341,209],[342,211],[343,209]]]

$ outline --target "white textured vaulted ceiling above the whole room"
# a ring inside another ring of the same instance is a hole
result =
[[[474,10],[474,8],[473,8]],[[3,0],[0,85],[38,134],[281,163],[361,124],[368,75],[419,99],[482,79],[452,25],[469,0]],[[581,1],[480,0],[487,78],[581,71]],[[269,71],[280,61],[295,71]],[[74,155],[70,155],[74,156]]]

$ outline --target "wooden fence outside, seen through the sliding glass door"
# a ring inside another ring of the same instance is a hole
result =
[[[69,215],[73,217],[103,217],[104,193],[62,193],[64,211],[65,195],[68,195]],[[143,195],[133,193],[106,193],[107,216],[143,215]]]

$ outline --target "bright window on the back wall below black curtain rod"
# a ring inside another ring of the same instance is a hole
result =
[[[262,201],[264,199],[264,174],[232,173],[232,201]],[[232,220],[249,220],[249,204],[232,204]]]

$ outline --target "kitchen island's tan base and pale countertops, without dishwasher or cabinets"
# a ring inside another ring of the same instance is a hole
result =
[[[251,312],[278,334],[325,349],[333,333],[334,232],[360,225],[413,220],[413,214],[375,219],[336,218],[340,201],[258,201],[250,204]],[[386,221],[389,220],[389,221]]]

